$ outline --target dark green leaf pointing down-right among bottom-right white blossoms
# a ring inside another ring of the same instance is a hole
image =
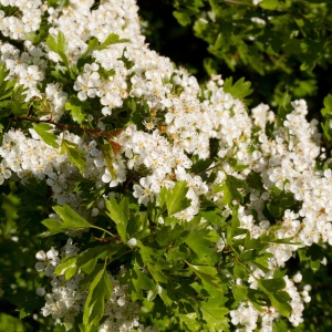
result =
[[[281,315],[289,317],[292,308],[288,303],[291,298],[282,289],[286,288],[286,281],[282,278],[273,279],[257,279],[259,288],[268,295],[272,305],[279,311]]]

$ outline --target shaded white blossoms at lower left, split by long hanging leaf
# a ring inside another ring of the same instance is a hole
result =
[[[48,289],[38,288],[37,294],[44,297],[45,305],[42,308],[42,314],[52,315],[54,320],[61,319],[63,322],[73,323],[75,317],[83,311],[84,302],[86,300],[86,291],[81,291],[79,283],[84,274],[79,273],[70,280],[65,280],[64,276],[55,276],[54,269],[60,263],[60,258],[68,258],[79,253],[79,248],[71,238],[68,239],[66,245],[59,250],[51,248],[48,252],[40,250],[35,257],[39,262],[35,263],[35,269],[39,272],[44,272],[46,277],[51,278]],[[120,284],[118,280],[108,273],[110,281],[113,284],[111,298],[105,302],[104,315],[106,320],[100,326],[98,332],[105,331],[138,331],[153,332],[152,328],[144,329],[139,324],[139,305],[132,302],[126,294],[126,286]]]

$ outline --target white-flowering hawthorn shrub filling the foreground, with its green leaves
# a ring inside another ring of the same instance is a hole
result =
[[[134,0],[0,2],[7,331],[299,326],[312,286],[288,262],[318,270],[332,245],[305,102],[199,85],[149,50]]]

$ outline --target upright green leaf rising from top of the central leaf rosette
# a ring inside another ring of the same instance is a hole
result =
[[[116,224],[116,229],[124,242],[127,241],[127,225],[129,219],[129,200],[123,197],[120,204],[114,197],[106,200],[107,216]]]

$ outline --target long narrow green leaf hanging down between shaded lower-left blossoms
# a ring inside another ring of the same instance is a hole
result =
[[[106,270],[100,271],[90,284],[84,304],[83,323],[86,332],[97,326],[104,315],[105,300],[111,298],[113,284]]]

